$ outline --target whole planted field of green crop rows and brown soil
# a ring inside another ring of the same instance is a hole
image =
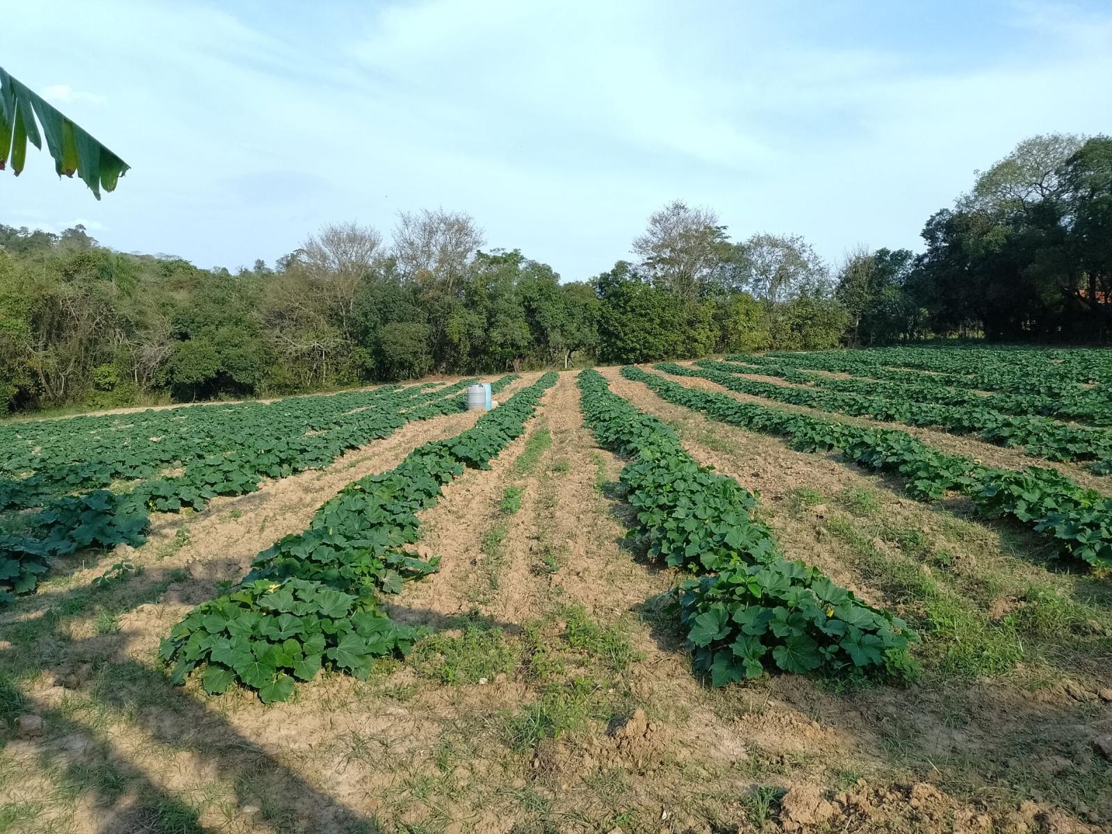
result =
[[[468,381],[0,426],[0,832],[1112,826],[1104,353]]]

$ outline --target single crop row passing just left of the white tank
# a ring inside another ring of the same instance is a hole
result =
[[[516,378],[510,375],[495,385],[500,389]],[[297,437],[236,433],[239,448],[198,458],[179,476],[147,480],[130,490],[96,489],[54,498],[38,513],[22,516],[19,528],[0,535],[0,603],[32,590],[58,556],[86,547],[142,544],[150,512],[201,509],[217,495],[254,492],[265,477],[324,466],[411,420],[458,411],[464,407],[458,390],[467,381],[435,391],[424,386],[384,391],[329,431],[305,434],[302,427]],[[236,413],[226,414],[224,419],[235,421],[236,417]]]

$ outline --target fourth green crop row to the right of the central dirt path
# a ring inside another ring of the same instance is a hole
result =
[[[910,399],[917,403],[941,403],[947,406],[969,408],[991,408],[1004,414],[1058,417],[1081,420],[1098,426],[1112,426],[1112,401],[1094,399],[1085,389],[1050,397],[1042,394],[979,394],[969,387],[954,387],[940,381],[939,377],[917,371],[894,371],[894,379],[867,379],[853,377],[837,379],[822,374],[808,374],[791,365],[777,363],[766,357],[747,357],[734,361],[704,359],[695,363],[699,367],[725,370],[731,374],[761,374],[780,377],[796,385],[827,388],[844,394],[871,394]]]

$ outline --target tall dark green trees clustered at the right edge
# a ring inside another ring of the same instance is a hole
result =
[[[925,251],[857,252],[838,276],[851,342],[983,334],[1100,340],[1112,324],[1112,138],[1036,136],[923,229]]]

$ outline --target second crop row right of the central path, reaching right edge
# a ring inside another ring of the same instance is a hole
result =
[[[686,375],[692,369],[668,366],[667,370]],[[1112,498],[1083,489],[1053,469],[987,467],[946,455],[897,429],[865,428],[741,403],[632,366],[622,368],[622,375],[644,383],[669,403],[751,431],[783,437],[801,451],[837,451],[850,463],[898,475],[920,500],[961,492],[986,516],[1011,516],[1046,534],[1061,556],[1075,557],[1101,572],[1112,568]]]

